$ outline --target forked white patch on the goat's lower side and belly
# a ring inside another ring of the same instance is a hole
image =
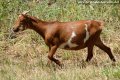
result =
[[[76,36],[75,32],[72,32],[71,37],[69,38],[69,40],[66,43],[63,43],[60,45],[60,48],[64,48],[66,45],[68,45],[70,48],[72,47],[77,47],[77,44],[72,43],[72,39]]]

